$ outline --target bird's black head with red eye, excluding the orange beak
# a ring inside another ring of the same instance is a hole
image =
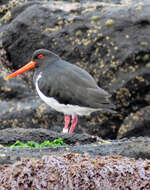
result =
[[[32,55],[32,61],[36,62],[35,67],[39,67],[42,63],[52,62],[58,59],[58,55],[47,49],[38,49]]]

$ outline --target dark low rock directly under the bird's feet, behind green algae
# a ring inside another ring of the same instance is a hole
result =
[[[0,130],[0,144],[12,145],[16,141],[26,143],[27,141],[35,141],[42,143],[44,141],[53,141],[62,138],[62,140],[69,145],[90,144],[97,141],[97,137],[82,135],[82,134],[63,134],[56,133],[47,129],[23,129],[23,128],[10,128]]]

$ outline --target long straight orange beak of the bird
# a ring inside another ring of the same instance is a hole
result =
[[[20,69],[18,69],[17,71],[15,71],[14,73],[10,74],[7,79],[11,79],[17,75],[20,75],[21,73],[29,70],[29,69],[33,69],[35,67],[36,62],[34,61],[30,61],[28,64],[26,64],[25,66],[21,67]]]

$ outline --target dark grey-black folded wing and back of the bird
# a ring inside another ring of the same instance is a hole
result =
[[[99,88],[88,72],[62,60],[42,73],[38,85],[45,96],[54,97],[62,104],[106,110],[114,108],[109,101],[110,94]]]

